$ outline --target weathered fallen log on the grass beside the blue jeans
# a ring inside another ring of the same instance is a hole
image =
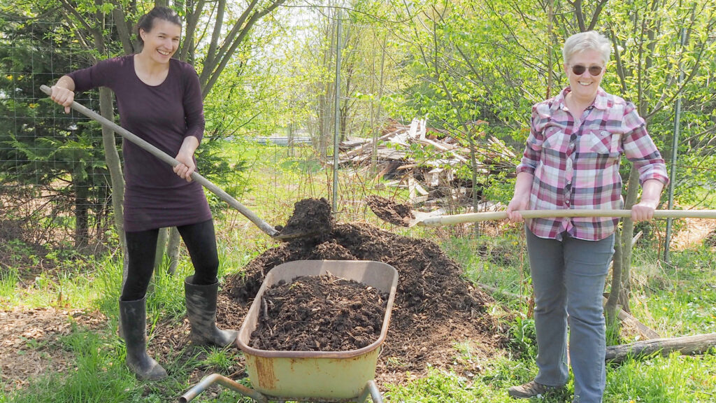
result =
[[[619,364],[629,357],[639,359],[657,352],[662,356],[667,356],[672,351],[679,351],[681,354],[691,356],[702,354],[712,347],[716,347],[716,333],[674,338],[652,338],[652,340],[608,346],[606,347],[605,360],[606,362]]]

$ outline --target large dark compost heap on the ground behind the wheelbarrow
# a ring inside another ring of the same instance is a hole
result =
[[[299,201],[295,208],[314,212],[330,210],[324,199]],[[316,215],[294,212],[294,217]],[[281,263],[375,260],[392,265],[399,273],[388,336],[382,345],[382,360],[377,369],[379,375],[398,376],[407,371],[421,374],[427,364],[452,363],[456,341],[469,339],[492,349],[503,343],[503,332],[486,312],[486,305],[493,300],[463,280],[458,263],[445,255],[435,242],[404,237],[361,222],[303,225],[294,220],[294,225],[296,229],[329,230],[266,250],[248,262],[244,272],[228,278],[218,309],[218,322],[223,328],[241,327],[266,272]],[[298,310],[299,305],[294,304],[294,308]],[[344,331],[337,333],[344,336]]]

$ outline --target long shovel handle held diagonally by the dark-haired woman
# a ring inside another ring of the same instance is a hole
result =
[[[41,85],[40,90],[42,90],[43,93],[49,95],[52,95],[52,89],[48,87],[47,85]],[[126,138],[127,140],[131,141],[132,143],[135,143],[137,146],[140,146],[145,151],[148,151],[149,153],[152,153],[155,157],[159,158],[160,160],[164,161],[165,163],[168,163],[171,166],[177,166],[179,165],[179,161],[177,161],[175,158],[170,156],[168,153],[165,153],[164,151],[161,151],[159,148],[153,146],[150,143],[147,143],[143,138],[140,138],[139,136],[135,135],[134,133],[128,131],[125,128],[122,128],[122,126],[117,125],[117,123],[112,122],[112,120],[109,120],[105,118],[104,116],[100,115],[99,113],[96,113],[94,110],[91,110],[89,108],[85,108],[83,105],[80,105],[77,102],[72,101],[72,105],[70,105],[70,108],[77,110],[77,112],[82,113],[82,115],[87,116],[88,118],[92,118],[94,120],[97,120],[97,122],[102,123],[102,125],[107,126],[107,128],[112,129],[115,131],[115,133],[119,134],[123,138]],[[191,179],[194,181],[197,181],[199,184],[204,186],[206,189],[209,189],[213,194],[216,194],[216,196],[219,196],[220,199],[223,201],[226,201],[231,207],[234,209],[237,209],[238,212],[243,214],[244,217],[248,218],[249,221],[253,222],[253,224],[256,224],[256,227],[261,229],[261,231],[266,232],[266,234],[269,234],[271,237],[275,237],[279,232],[269,225],[269,223],[263,221],[263,219],[259,218],[256,214],[254,214],[250,209],[248,209],[246,206],[241,204],[238,200],[234,199],[231,194],[226,193],[223,189],[213,184],[208,179],[201,176],[198,172],[194,171],[193,174],[191,174]]]

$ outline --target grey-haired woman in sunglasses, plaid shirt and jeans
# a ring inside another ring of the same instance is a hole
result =
[[[632,219],[651,219],[669,179],[634,105],[599,87],[609,40],[581,32],[566,40],[562,53],[569,87],[532,108],[508,219],[521,222],[524,209],[621,208],[622,154],[639,169],[642,184]],[[526,222],[538,373],[533,381],[511,387],[511,397],[527,399],[566,384],[569,324],[574,402],[601,402],[606,383],[602,293],[618,223],[610,217]]]

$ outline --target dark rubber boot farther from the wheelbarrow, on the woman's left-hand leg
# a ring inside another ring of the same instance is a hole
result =
[[[120,336],[127,346],[127,366],[142,381],[158,381],[167,377],[157,361],[147,355],[146,297],[135,301],[120,300]]]

